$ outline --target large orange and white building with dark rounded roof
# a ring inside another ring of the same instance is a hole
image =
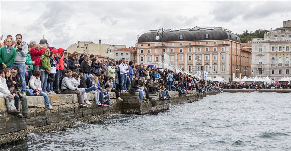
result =
[[[157,30],[151,30],[139,37],[138,62],[162,61],[162,37],[156,40],[156,35]],[[251,75],[251,50],[242,48],[239,37],[221,27],[164,30],[163,51],[171,62],[178,59],[175,62],[177,68],[190,73],[205,70],[228,82],[233,73],[236,76],[239,73]]]

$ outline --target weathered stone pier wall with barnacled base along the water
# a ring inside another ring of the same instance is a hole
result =
[[[14,143],[24,139],[29,133],[46,133],[51,131],[64,130],[74,126],[77,122],[94,123],[98,119],[108,117],[110,114],[152,114],[157,115],[165,111],[171,105],[178,105],[182,102],[194,102],[220,92],[206,92],[200,94],[196,91],[188,91],[189,97],[179,97],[177,91],[169,91],[172,97],[169,100],[161,100],[157,95],[150,94],[151,101],[141,101],[139,94],[131,95],[127,92],[119,92],[124,100],[118,102],[115,93],[109,93],[113,107],[98,107],[93,100],[93,94],[87,94],[88,100],[92,103],[87,109],[80,109],[76,94],[48,95],[53,110],[45,109],[43,96],[28,96],[28,112],[31,119],[18,118],[7,112],[4,98],[0,98],[0,146],[7,143]],[[20,106],[21,107],[21,106]]]

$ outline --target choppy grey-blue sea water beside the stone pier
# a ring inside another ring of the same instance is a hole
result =
[[[157,116],[111,115],[4,150],[291,150],[291,93],[224,93]]]

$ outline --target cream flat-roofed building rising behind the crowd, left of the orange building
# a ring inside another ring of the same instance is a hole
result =
[[[92,41],[91,42],[80,42],[72,44],[67,48],[67,51],[70,53],[73,53],[74,51],[77,51],[78,53],[84,53],[87,52],[88,54],[93,54],[93,55],[102,55],[102,56],[107,56],[109,58],[113,58],[113,52],[110,55],[106,53],[107,48],[111,48],[111,50],[116,50],[120,48],[125,48],[125,45],[111,45],[111,44],[102,44],[101,40],[99,40],[99,44],[95,44]],[[108,49],[109,50],[109,49]]]

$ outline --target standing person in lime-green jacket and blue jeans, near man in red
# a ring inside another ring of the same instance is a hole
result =
[[[49,75],[49,72],[51,71],[51,63],[49,61],[49,48],[45,49],[45,52],[41,55],[41,58],[44,58],[44,60],[41,61],[41,66],[40,66],[40,81],[41,81],[41,87],[42,87],[42,92],[45,94],[49,95],[47,92],[47,78]]]

